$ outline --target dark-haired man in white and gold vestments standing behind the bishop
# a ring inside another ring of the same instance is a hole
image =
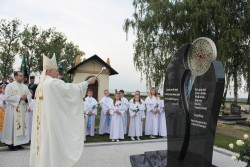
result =
[[[28,102],[31,93],[23,84],[23,73],[14,72],[15,81],[8,84],[5,90],[6,112],[2,133],[2,143],[15,151],[23,149],[21,145],[29,143]]]

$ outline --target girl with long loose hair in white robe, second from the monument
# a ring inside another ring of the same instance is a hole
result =
[[[149,96],[145,99],[147,107],[146,123],[145,123],[145,135],[150,135],[150,138],[156,138],[159,133],[159,112],[160,112],[160,100],[156,96],[155,88],[150,88]]]

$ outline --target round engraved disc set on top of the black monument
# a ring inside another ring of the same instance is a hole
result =
[[[216,57],[217,49],[214,42],[205,37],[197,38],[188,52],[188,67],[192,75],[205,74]]]

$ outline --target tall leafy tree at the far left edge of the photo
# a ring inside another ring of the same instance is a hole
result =
[[[3,77],[13,73],[15,55],[19,51],[19,20],[0,20],[0,71]]]

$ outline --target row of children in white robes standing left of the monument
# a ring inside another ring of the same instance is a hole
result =
[[[136,91],[130,101],[124,97],[123,90],[115,93],[114,99],[109,96],[109,91],[105,90],[104,97],[99,103],[92,96],[93,90],[88,89],[87,97],[84,100],[85,135],[95,135],[95,117],[98,105],[100,105],[99,134],[109,134],[112,141],[118,142],[120,139],[124,139],[124,135],[127,133],[131,140],[140,140],[143,131],[150,138],[156,138],[156,136],[166,138],[164,102],[155,88],[150,89],[145,101],[141,99],[140,91]],[[143,128],[144,125],[145,128]]]

